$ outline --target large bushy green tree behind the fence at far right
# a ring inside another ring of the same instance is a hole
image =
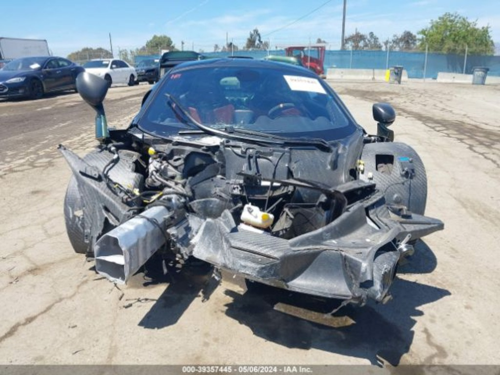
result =
[[[431,20],[430,26],[418,31],[418,48],[443,53],[465,53],[467,46],[470,54],[493,54],[494,43],[489,33],[489,26],[477,27],[476,21],[469,21],[458,13],[444,13],[437,20]]]

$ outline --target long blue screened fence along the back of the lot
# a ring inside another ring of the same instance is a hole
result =
[[[208,57],[224,57],[231,52],[204,52]],[[283,50],[261,51],[234,51],[234,55],[262,58],[267,54],[284,55]],[[158,56],[135,56],[136,62],[142,58]],[[386,69],[394,65],[402,65],[408,72],[409,78],[436,78],[439,71],[450,73],[463,73],[465,62],[465,73],[471,74],[475,66],[489,68],[488,75],[500,76],[500,56],[478,56],[457,54],[428,53],[425,63],[424,52],[399,52],[399,51],[363,51],[363,50],[327,50],[324,56],[324,68],[362,68],[362,69]]]

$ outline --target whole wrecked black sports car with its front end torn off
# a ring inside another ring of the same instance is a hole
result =
[[[443,228],[423,215],[425,169],[392,141],[392,107],[373,105],[369,135],[302,67],[178,65],[125,130],[107,129],[104,80],[81,73],[77,84],[100,143],[82,158],[59,146],[73,173],[66,227],[111,281],[157,253],[345,303],[384,302],[413,241]]]

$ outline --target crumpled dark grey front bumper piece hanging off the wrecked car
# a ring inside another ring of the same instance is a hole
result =
[[[288,240],[240,229],[224,212],[201,225],[191,241],[192,255],[293,291],[360,304],[368,297],[384,301],[402,248],[407,249],[397,243],[412,231],[418,237],[442,228],[437,219],[414,216],[403,226],[387,215],[390,225],[382,229],[369,222],[362,205],[355,205],[324,227]]]

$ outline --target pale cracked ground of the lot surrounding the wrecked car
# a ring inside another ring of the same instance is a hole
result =
[[[226,277],[203,302],[193,272],[118,289],[72,252],[63,222],[70,173],[55,148],[90,149],[93,111],[72,93],[0,100],[0,364],[500,364],[500,86],[330,84],[368,132],[371,104],[394,105],[396,140],[427,168],[426,214],[445,223],[392,301],[325,317]],[[110,89],[111,126],[147,88]]]

